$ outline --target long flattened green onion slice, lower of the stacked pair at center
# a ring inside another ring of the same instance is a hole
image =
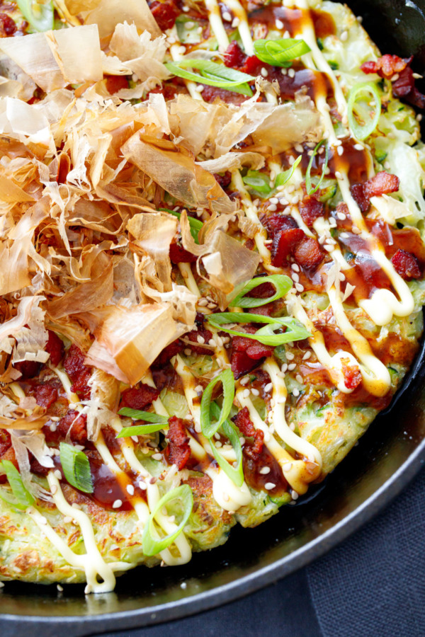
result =
[[[303,325],[297,323],[295,319],[291,319],[290,316],[273,319],[271,316],[263,316],[262,314],[217,312],[217,314],[209,314],[207,320],[213,327],[227,332],[227,334],[245,336],[246,338],[252,338],[252,340],[258,340],[259,343],[263,343],[263,345],[271,345],[273,347],[282,345],[283,343],[290,343],[293,340],[303,340],[311,336],[310,332],[308,332]],[[266,323],[266,325],[256,331],[255,334],[249,334],[240,330],[223,327],[229,323]],[[284,333],[274,333],[276,329],[283,327],[286,328]]]

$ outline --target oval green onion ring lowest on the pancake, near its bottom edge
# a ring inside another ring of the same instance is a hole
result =
[[[179,526],[173,533],[164,537],[159,537],[154,525],[155,516],[160,510],[162,510],[162,507],[166,506],[169,502],[171,502],[171,500],[179,500],[181,505],[183,505],[183,517],[181,518]],[[163,495],[156,507],[154,507],[151,515],[149,515],[145,529],[143,530],[143,553],[145,553],[146,556],[157,555],[170,546],[170,544],[173,544],[174,540],[183,531],[183,528],[191,515],[192,509],[193,493],[190,486],[187,484],[182,484],[181,486],[169,491],[169,493]]]

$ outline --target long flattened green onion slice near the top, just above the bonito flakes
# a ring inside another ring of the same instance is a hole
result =
[[[165,67],[177,77],[192,80],[208,86],[225,88],[227,91],[242,93],[242,95],[252,95],[251,88],[246,84],[253,82],[254,77],[235,69],[229,69],[225,64],[216,64],[209,59],[181,59],[179,62],[167,62]],[[186,69],[199,69],[200,74],[187,71]]]

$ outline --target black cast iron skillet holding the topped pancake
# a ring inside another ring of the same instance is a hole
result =
[[[353,0],[382,52],[416,56],[425,71],[425,0]],[[424,90],[424,87],[422,87]],[[234,528],[225,546],[186,566],[139,568],[115,592],[7,583],[2,634],[69,637],[146,626],[229,602],[292,573],[353,533],[394,498],[425,461],[425,345],[404,387],[331,476],[256,529]],[[181,584],[184,583],[183,587]]]

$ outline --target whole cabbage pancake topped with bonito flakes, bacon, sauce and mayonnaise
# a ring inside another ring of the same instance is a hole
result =
[[[83,4],[1,5],[0,579],[105,592],[302,500],[390,404],[425,98],[342,4]]]

